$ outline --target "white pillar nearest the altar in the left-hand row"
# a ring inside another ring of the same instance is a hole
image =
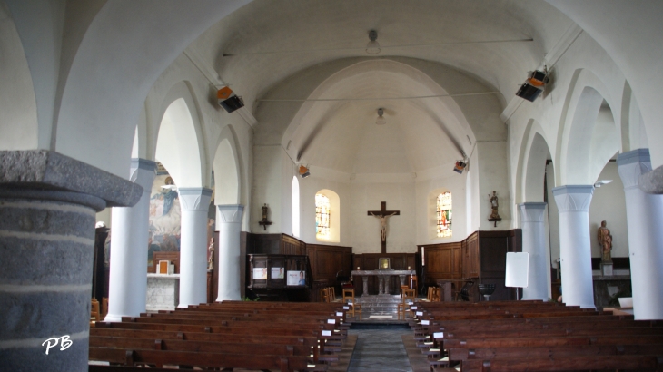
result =
[[[219,290],[217,301],[242,299],[240,277],[240,232],[243,205],[216,206],[216,230],[219,231]]]

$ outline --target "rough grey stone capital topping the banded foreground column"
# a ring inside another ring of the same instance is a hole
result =
[[[57,152],[0,152],[0,193],[17,191],[85,194],[104,201],[104,207],[131,207],[143,195],[140,185]],[[99,210],[101,204],[90,206]]]

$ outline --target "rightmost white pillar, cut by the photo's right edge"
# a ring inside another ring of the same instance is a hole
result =
[[[651,171],[648,149],[617,157],[624,183],[628,227],[628,255],[636,319],[663,319],[663,195],[638,188],[640,175]]]

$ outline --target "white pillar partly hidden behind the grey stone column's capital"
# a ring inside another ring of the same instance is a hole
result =
[[[111,219],[111,271],[105,321],[122,321],[145,312],[150,192],[156,163],[132,159],[129,180],[143,187],[134,207],[114,208]]]

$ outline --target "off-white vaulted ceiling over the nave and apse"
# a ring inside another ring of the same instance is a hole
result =
[[[407,173],[504,141],[500,113],[572,24],[538,0],[256,0],[188,50],[242,95],[255,144],[345,173]]]

